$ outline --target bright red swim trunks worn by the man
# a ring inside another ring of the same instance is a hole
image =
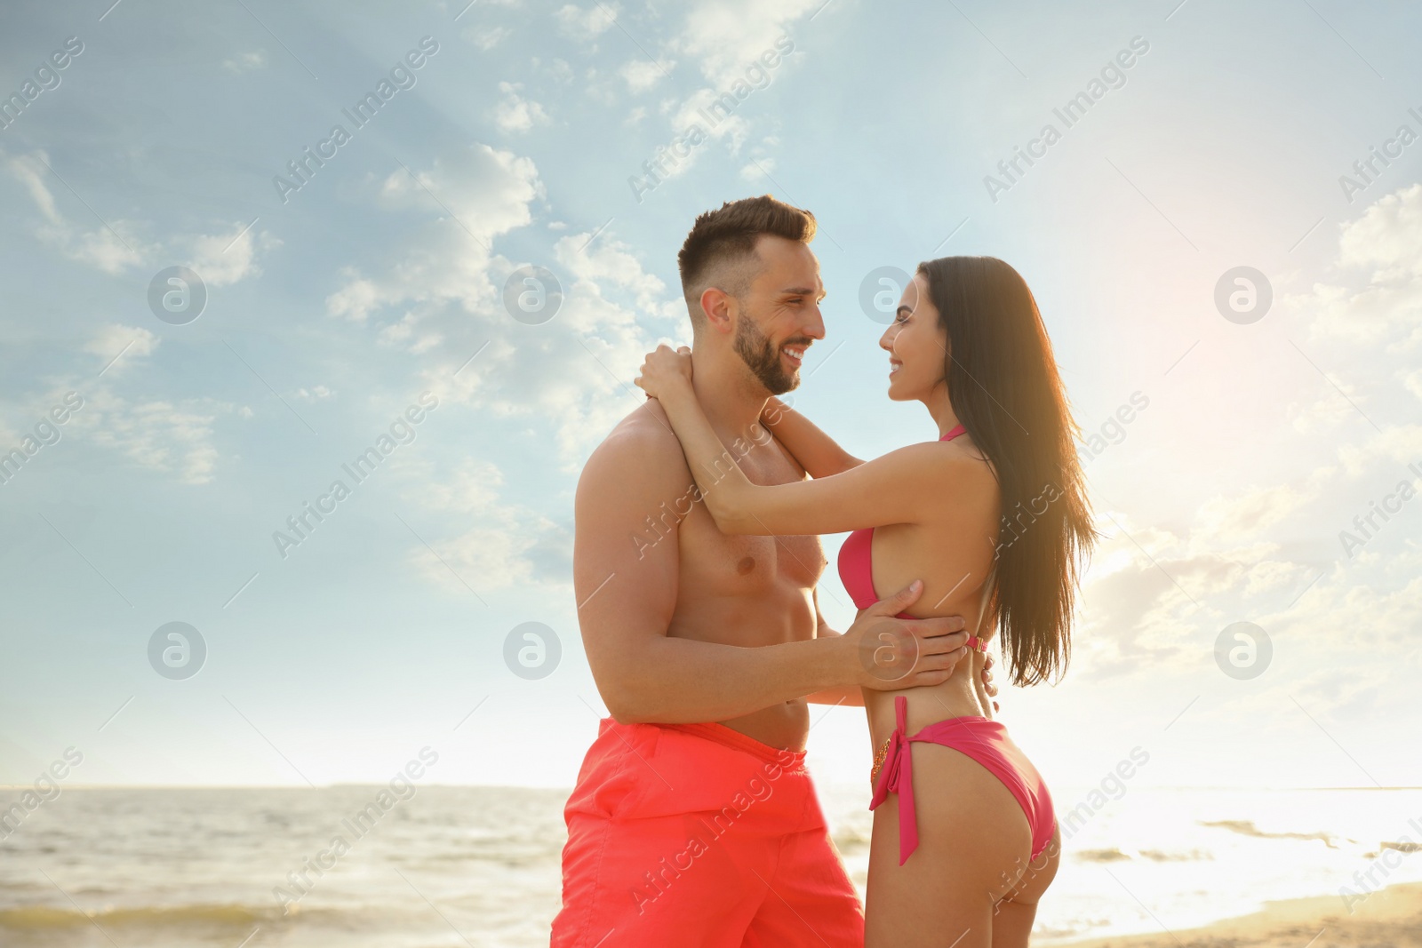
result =
[[[862,948],[803,750],[604,718],[563,809],[552,948]]]

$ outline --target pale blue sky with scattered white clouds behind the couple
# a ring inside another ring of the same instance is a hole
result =
[[[1049,780],[1422,785],[1415,6],[109,4],[0,11],[0,783],[570,786],[577,473],[772,193],[859,456],[936,436],[886,267],[1037,296],[1105,534],[1001,696]]]

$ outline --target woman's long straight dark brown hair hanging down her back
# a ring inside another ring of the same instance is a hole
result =
[[[948,398],[1003,497],[997,615],[1014,685],[1066,671],[1079,560],[1096,540],[1072,421],[1027,281],[997,257],[919,264],[947,330]]]

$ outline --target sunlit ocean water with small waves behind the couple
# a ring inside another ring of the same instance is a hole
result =
[[[0,945],[547,945],[566,790],[419,786],[370,807],[384,789],[65,787],[0,839]],[[1054,795],[1071,837],[1034,944],[1307,895],[1347,911],[1345,898],[1422,881],[1416,789]],[[863,897],[866,789],[822,786],[820,799]],[[303,870],[309,885],[289,876]]]

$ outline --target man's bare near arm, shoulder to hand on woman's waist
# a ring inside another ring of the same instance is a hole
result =
[[[951,674],[966,654],[960,618],[893,618],[921,594],[921,584],[867,610],[845,635],[761,648],[668,637],[677,603],[677,523],[690,509],[691,478],[660,409],[648,404],[638,411],[647,415],[623,422],[593,452],[576,499],[579,625],[613,718],[725,721],[830,688],[909,688]],[[859,659],[862,642],[887,641],[884,635],[897,654],[913,657],[912,671],[897,682],[876,678]]]

